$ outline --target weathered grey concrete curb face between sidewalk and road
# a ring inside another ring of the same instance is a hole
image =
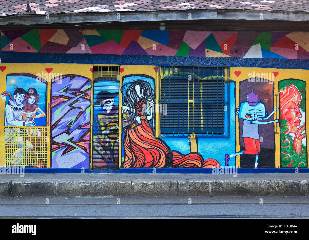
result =
[[[0,196],[298,196],[307,180],[0,181]]]

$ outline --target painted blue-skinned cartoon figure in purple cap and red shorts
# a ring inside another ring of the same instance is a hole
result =
[[[273,122],[279,122],[279,119],[274,121],[262,122],[260,120],[267,120],[271,115],[273,115],[278,107],[271,114],[267,114],[265,111],[265,105],[259,101],[259,96],[251,91],[247,95],[247,101],[240,103],[240,107],[236,109],[236,115],[243,119],[243,142],[245,144],[245,150],[236,152],[234,154],[225,154],[224,160],[225,165],[228,166],[231,157],[241,155],[241,154],[251,154],[255,155],[255,168],[257,167],[257,160],[259,157],[260,148],[260,135],[259,135],[259,124],[267,124]],[[266,115],[268,115],[266,117]]]

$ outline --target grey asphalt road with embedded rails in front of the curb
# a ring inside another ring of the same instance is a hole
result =
[[[0,197],[0,217],[309,218],[308,200],[307,196],[15,196]]]

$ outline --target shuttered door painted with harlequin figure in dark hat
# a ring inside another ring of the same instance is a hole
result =
[[[94,81],[92,168],[118,169],[119,81]]]

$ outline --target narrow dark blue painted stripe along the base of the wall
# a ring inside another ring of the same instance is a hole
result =
[[[25,168],[25,173],[81,173],[80,168]],[[156,168],[156,173],[206,173],[212,168]],[[152,168],[120,168],[117,171],[94,171],[85,169],[85,173],[152,173]],[[309,173],[309,168],[298,168],[299,173]],[[238,168],[237,173],[295,173],[295,168]]]

